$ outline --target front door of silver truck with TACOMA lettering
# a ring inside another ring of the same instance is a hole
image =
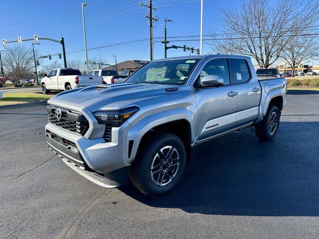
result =
[[[221,76],[224,85],[198,88],[206,75]],[[198,141],[221,134],[235,127],[237,108],[237,88],[230,84],[230,71],[226,58],[214,58],[202,67],[195,83],[197,105]]]

